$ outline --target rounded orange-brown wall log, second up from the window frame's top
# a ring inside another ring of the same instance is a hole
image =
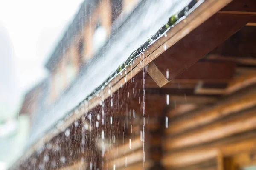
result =
[[[227,121],[216,122],[215,124],[201,127],[190,133],[185,133],[176,138],[173,138],[169,144],[169,149],[179,149],[183,147],[191,147],[193,145],[212,142],[227,136],[242,133],[248,130],[256,129],[256,110],[249,113],[241,113]],[[169,127],[170,129],[171,127]]]

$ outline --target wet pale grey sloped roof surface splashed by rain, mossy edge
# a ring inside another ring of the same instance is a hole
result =
[[[28,146],[44,136],[79,103],[90,99],[90,96],[104,88],[127,62],[131,62],[143,49],[152,45],[158,37],[172,27],[169,25],[177,20],[175,14],[182,11],[179,16],[182,17],[185,7],[186,10],[192,7],[187,7],[190,1],[143,0],[129,16],[125,17],[125,21],[114,24],[112,33],[103,48],[82,68],[71,87],[54,105],[38,111],[32,125]],[[193,0],[190,5],[195,2],[196,0]],[[175,17],[171,17],[173,15]]]

